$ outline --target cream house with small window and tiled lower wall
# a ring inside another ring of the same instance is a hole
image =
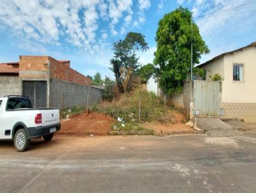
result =
[[[225,52],[199,65],[205,80],[221,75],[221,104],[225,116],[256,122],[256,42]]]

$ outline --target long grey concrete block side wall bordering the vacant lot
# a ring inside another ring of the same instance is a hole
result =
[[[102,99],[102,90],[75,84],[73,82],[65,82],[57,79],[51,79],[50,82],[51,107],[74,107],[86,106],[87,95],[89,94],[89,104],[97,103]]]

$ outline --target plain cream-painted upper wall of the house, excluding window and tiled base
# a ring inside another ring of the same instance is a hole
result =
[[[243,65],[243,81],[233,81],[233,65]],[[206,81],[211,81],[209,75],[220,73],[221,102],[256,103],[256,47],[247,47],[234,53],[221,56],[210,61],[202,68],[206,72]]]

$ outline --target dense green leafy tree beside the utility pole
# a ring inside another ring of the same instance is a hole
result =
[[[191,41],[194,65],[199,63],[201,54],[209,53],[194,22],[191,29],[191,15],[187,8],[179,7],[159,20],[154,65],[159,86],[166,94],[172,95],[182,89],[191,66]]]

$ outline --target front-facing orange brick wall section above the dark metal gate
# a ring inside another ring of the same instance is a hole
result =
[[[20,56],[19,70],[19,77],[47,77],[48,56]]]

